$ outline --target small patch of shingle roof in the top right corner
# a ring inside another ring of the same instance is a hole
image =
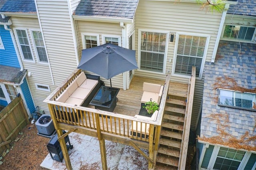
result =
[[[236,5],[230,5],[227,13],[256,16],[256,0],[238,0]]]

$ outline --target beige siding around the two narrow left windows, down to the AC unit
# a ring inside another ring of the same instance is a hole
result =
[[[46,113],[48,113],[48,106],[46,105],[46,103],[43,103],[43,101],[48,95],[50,95],[50,92],[36,89],[35,83],[49,85],[51,90],[54,90],[56,86],[52,85],[52,77],[50,74],[49,65],[38,63],[38,59],[36,58],[36,51],[34,48],[32,35],[30,34],[29,30],[31,29],[40,30],[38,19],[12,16],[11,28],[23,28],[23,29],[27,29],[28,31],[28,36],[30,38],[30,44],[33,51],[35,62],[22,61],[22,64],[24,66],[24,69],[27,69],[28,72],[32,73],[31,77],[27,77],[27,80],[28,80],[28,85],[30,87],[30,91],[34,100],[34,104],[36,106],[39,106],[39,108],[44,110]],[[16,42],[18,41],[16,40]],[[20,49],[19,49],[19,53],[20,53]],[[22,56],[21,53],[20,53],[20,56]]]

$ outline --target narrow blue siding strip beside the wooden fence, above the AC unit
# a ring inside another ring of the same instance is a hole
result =
[[[34,102],[32,100],[32,97],[31,97],[31,93],[29,91],[29,88],[28,88],[28,83],[27,83],[27,80],[26,78],[23,80],[23,83],[22,85],[20,85],[21,89],[22,89],[22,93],[25,97],[25,102],[28,106],[28,109],[30,111],[30,113],[33,113],[35,111],[35,105],[34,105]]]

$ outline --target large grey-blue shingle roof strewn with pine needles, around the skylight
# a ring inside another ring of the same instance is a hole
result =
[[[256,46],[253,43],[220,41],[217,55],[221,57],[216,58],[215,63],[205,63],[200,137],[210,138],[221,135],[222,132],[218,128],[235,138],[241,138],[246,134],[246,131],[249,132],[249,135],[256,134],[254,127],[256,124],[256,112],[218,106],[218,90],[214,89],[217,77],[222,77],[225,82],[230,82],[228,79],[223,78],[224,75],[234,79],[240,87],[246,89],[256,88],[255,53]],[[219,88],[225,89],[223,82]],[[223,117],[218,116],[220,121],[212,120],[212,114],[220,114]],[[224,119],[226,116],[228,116],[228,119]],[[228,120],[228,122],[225,122],[225,120]],[[221,123],[222,126],[220,125]],[[227,137],[223,138],[224,141],[226,139]],[[250,141],[248,144],[255,145],[254,142]]]

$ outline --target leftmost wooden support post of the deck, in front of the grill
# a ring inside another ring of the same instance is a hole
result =
[[[51,105],[51,104],[48,104],[48,107],[49,107],[50,114],[51,114],[51,117],[52,117],[53,125],[56,129],[58,137],[60,137],[60,136],[63,135],[63,132],[62,132],[62,129],[60,129],[58,127],[58,124],[57,124],[57,121],[56,121],[56,117],[55,117],[54,110],[53,110],[53,108],[55,106]],[[67,167],[68,170],[72,170],[72,166],[71,166],[70,158],[69,158],[69,155],[68,155],[68,149],[67,149],[67,146],[66,146],[65,138],[60,138],[59,142],[60,142],[60,148],[61,148],[61,151],[63,153],[64,160],[65,160],[65,163],[66,163],[66,167]]]

